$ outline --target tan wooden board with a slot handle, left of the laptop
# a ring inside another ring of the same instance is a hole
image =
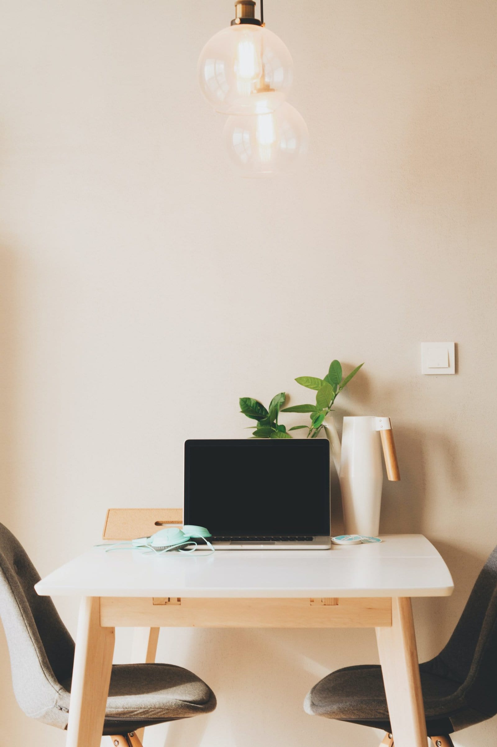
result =
[[[183,509],[108,509],[102,539],[149,537],[172,524],[183,524]]]

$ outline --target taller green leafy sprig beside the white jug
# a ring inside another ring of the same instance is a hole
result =
[[[351,371],[345,379],[343,379],[342,366],[338,361],[331,362],[329,371],[323,379],[317,379],[315,376],[298,376],[298,379],[296,379],[298,384],[316,391],[316,404],[295,405],[282,409],[281,412],[308,412],[310,415],[310,426],[296,425],[290,428],[290,430],[307,428],[307,438],[316,438],[323,427],[326,415],[333,409],[334,401],[337,399],[340,391],[346,388],[348,382],[354,378],[357,371],[363,365],[361,363],[357,368],[354,368],[354,371]]]

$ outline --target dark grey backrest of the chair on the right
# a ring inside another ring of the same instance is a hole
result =
[[[447,645],[422,665],[460,683],[466,707],[497,713],[497,548],[490,554]]]

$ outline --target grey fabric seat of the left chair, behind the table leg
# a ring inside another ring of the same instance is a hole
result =
[[[70,681],[63,682],[70,707]],[[63,692],[58,702],[63,704]],[[114,664],[105,710],[104,734],[118,734],[121,724],[135,731],[147,724],[209,713],[216,696],[199,677],[172,664]]]

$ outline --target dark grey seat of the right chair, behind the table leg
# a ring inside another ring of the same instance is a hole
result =
[[[426,718],[449,716],[462,703],[457,682],[421,672]],[[348,666],[319,681],[307,695],[307,713],[328,719],[388,722],[387,698],[380,666]]]

